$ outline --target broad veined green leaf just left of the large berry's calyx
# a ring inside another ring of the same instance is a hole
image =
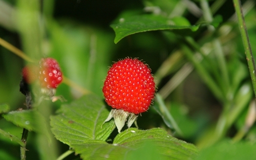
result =
[[[57,113],[51,117],[52,132],[56,139],[68,145],[83,144],[88,140],[105,141],[114,129],[113,120],[102,125],[109,111],[94,95],[62,105]]]

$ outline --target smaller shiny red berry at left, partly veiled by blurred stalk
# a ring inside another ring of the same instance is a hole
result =
[[[39,80],[41,87],[56,88],[62,81],[58,62],[53,58],[42,58],[39,62]]]

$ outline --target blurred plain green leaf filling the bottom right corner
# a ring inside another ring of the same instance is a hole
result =
[[[255,159],[256,145],[246,142],[232,144],[222,141],[209,148],[202,149],[198,160]]]

